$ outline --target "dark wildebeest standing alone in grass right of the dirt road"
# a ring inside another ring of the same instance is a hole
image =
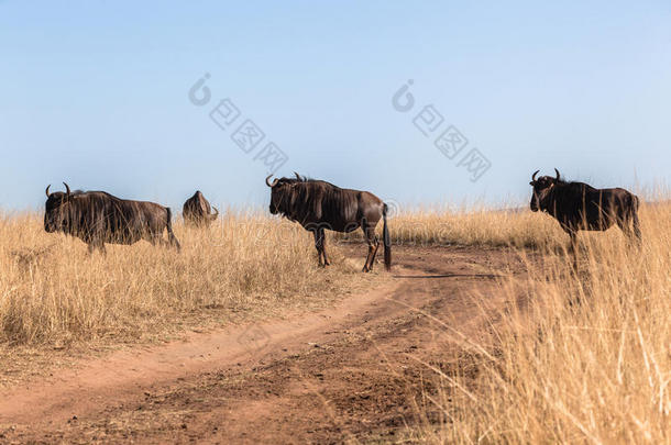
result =
[[[540,171],[540,170],[539,170]],[[595,189],[584,182],[568,182],[557,176],[531,176],[534,194],[531,211],[543,211],[554,216],[571,236],[571,252],[578,264],[578,232],[606,231],[617,224],[631,241],[640,244],[638,221],[639,199],[625,189]]]

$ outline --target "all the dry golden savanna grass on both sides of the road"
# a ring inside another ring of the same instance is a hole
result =
[[[505,252],[517,265],[497,266],[486,292],[463,283],[451,290],[468,293],[473,318],[485,319],[486,335],[468,336],[446,313],[427,314],[450,346],[431,349],[429,361],[439,365],[428,361],[422,377],[431,385],[409,396],[414,421],[394,441],[669,443],[671,205],[644,205],[640,218],[640,249],[617,230],[582,233],[578,272],[566,258],[568,237],[543,214],[416,211],[392,218],[393,243],[403,246],[396,264],[414,249],[421,252],[420,265],[432,247],[470,246],[484,252],[472,257],[477,260]],[[3,349],[38,354],[148,342],[323,308],[348,292],[404,279],[383,272],[381,264],[376,272],[361,274],[365,247],[356,244],[359,234],[330,236],[336,262],[327,270],[317,266],[302,229],[264,215],[229,213],[206,231],[178,224],[176,234],[180,254],[140,243],[89,256],[78,240],[44,233],[41,215],[4,215]],[[344,254],[353,246],[359,257]],[[428,282],[440,298],[438,279],[451,276],[428,278],[436,278]],[[495,309],[488,305],[492,292],[503,301]],[[328,356],[317,368],[334,359]],[[328,386],[328,378],[321,381]]]

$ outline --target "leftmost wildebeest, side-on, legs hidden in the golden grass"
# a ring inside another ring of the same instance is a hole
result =
[[[76,236],[88,244],[89,253],[95,248],[105,253],[105,243],[134,244],[140,240],[180,248],[173,233],[170,209],[154,202],[119,199],[105,191],[70,192],[69,186],[63,185],[65,193],[50,193],[51,186],[46,188],[46,232]],[[163,238],[164,230],[167,241]]]

